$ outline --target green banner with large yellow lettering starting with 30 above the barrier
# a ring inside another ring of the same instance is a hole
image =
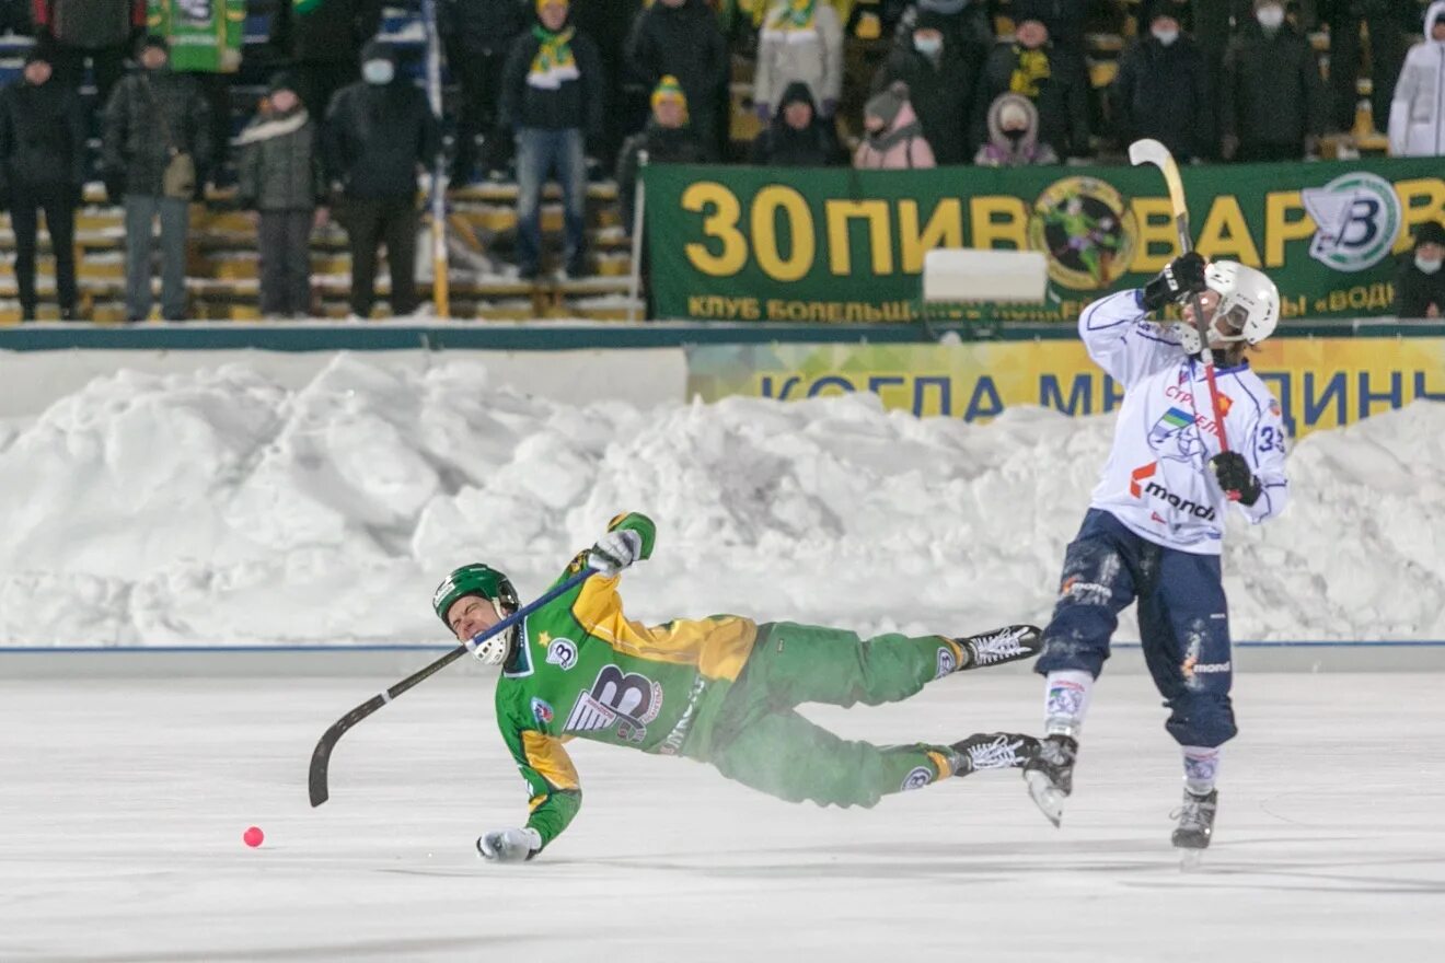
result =
[[[1183,170],[1198,250],[1267,270],[1285,318],[1392,310],[1415,228],[1445,218],[1439,157]],[[656,315],[910,321],[935,247],[1039,250],[1049,299],[998,321],[1072,321],[1142,286],[1178,243],[1155,167],[646,169]],[[961,316],[970,316],[964,313]],[[972,316],[983,316],[975,310]]]

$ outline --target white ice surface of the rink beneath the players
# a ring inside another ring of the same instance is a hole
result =
[[[1433,963],[1445,791],[1420,736],[1442,689],[1241,676],[1215,845],[1185,875],[1178,755],[1142,676],[1100,683],[1061,830],[1013,774],[819,810],[574,742],[582,810],[523,866],[473,855],[525,817],[488,679],[361,723],[318,810],[311,748],[364,683],[0,683],[0,959]],[[1039,709],[1036,679],[974,673],[809,715],[887,742]]]

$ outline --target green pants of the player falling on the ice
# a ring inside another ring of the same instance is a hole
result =
[[[757,647],[711,726],[704,757],[756,790],[819,806],[874,806],[889,793],[951,774],[948,746],[853,742],[803,719],[805,702],[868,706],[900,702],[958,666],[958,645],[818,625],[759,627]]]

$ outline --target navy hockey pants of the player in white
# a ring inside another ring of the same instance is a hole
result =
[[[1237,729],[1220,557],[1157,546],[1107,511],[1090,510],[1069,543],[1035,671],[1072,668],[1097,679],[1118,614],[1136,599],[1144,663],[1169,709],[1169,735],[1181,745],[1227,742]]]

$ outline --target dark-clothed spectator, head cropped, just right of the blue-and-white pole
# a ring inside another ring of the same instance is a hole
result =
[[[496,136],[501,66],[512,43],[527,26],[526,6],[522,0],[441,0],[436,26],[447,46],[447,65],[461,94],[452,180],[473,180],[478,139],[483,172],[500,180],[512,157],[512,139]]]

